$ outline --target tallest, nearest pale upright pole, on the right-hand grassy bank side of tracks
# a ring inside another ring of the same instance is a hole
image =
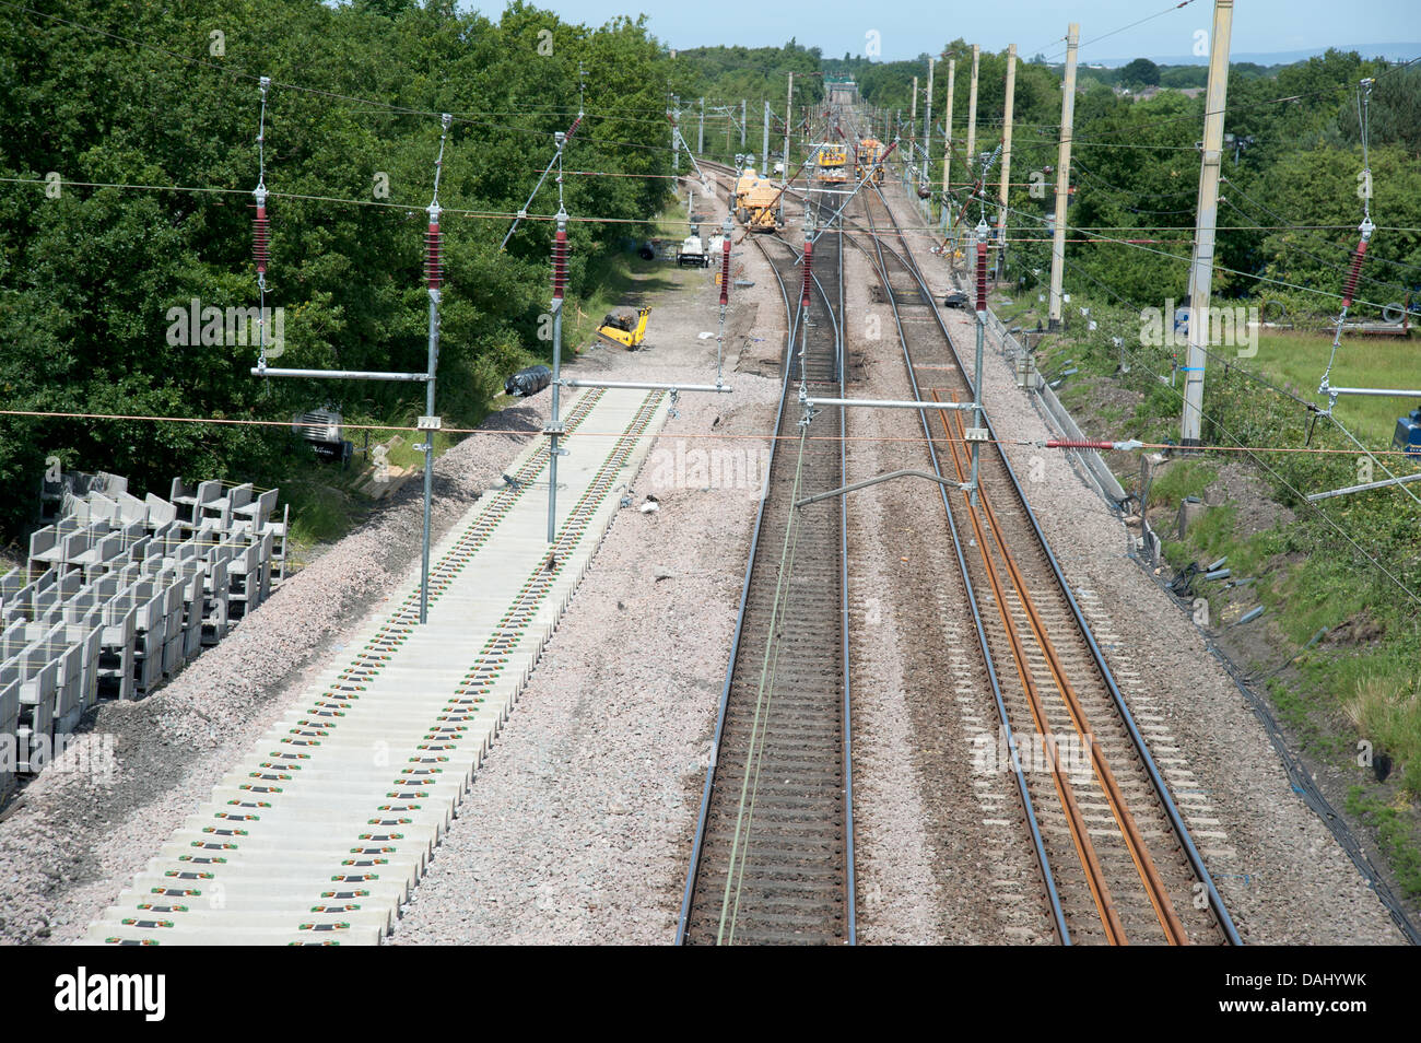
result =
[[[1219,166],[1223,151],[1223,104],[1229,91],[1229,36],[1233,0],[1214,0],[1209,37],[1209,87],[1204,105],[1204,161],[1195,205],[1194,260],[1189,264],[1189,364],[1184,371],[1184,416],[1179,443],[1199,445],[1204,418],[1204,361],[1209,342],[1209,296],[1214,290],[1214,227],[1219,216]]]

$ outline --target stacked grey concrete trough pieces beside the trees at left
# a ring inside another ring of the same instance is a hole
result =
[[[175,479],[171,499],[139,500],[114,475],[53,485],[64,516],[0,575],[0,742],[17,753],[0,764],[0,801],[41,743],[101,696],[132,699],[173,676],[261,604],[273,564],[284,571],[274,489]]]

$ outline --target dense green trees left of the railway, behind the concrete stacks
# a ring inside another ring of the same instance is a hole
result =
[[[439,112],[453,112],[441,203],[517,210],[551,158],[551,134],[588,118],[577,169],[664,175],[665,92],[678,67],[641,21],[601,28],[524,3],[497,21],[450,0],[65,0],[0,20],[0,176],[227,192],[0,185],[0,399],[7,409],[290,418],[330,399],[348,414],[412,412],[419,385],[313,384],[249,375],[254,347],[171,345],[168,310],[254,307],[252,196],[259,90],[267,111],[273,246],[269,306],[286,310],[276,365],[423,369],[422,240]],[[215,41],[213,33],[220,33]],[[122,37],[115,38],[115,37]],[[141,41],[139,44],[125,40]],[[220,47],[217,45],[220,43]],[[220,51],[220,53],[219,53]],[[307,88],[307,90],[297,90]],[[362,99],[372,99],[369,104]],[[388,178],[388,195],[377,179]],[[574,216],[641,220],[664,178],[567,178]],[[291,199],[324,196],[334,200]],[[549,185],[530,210],[557,209]],[[475,419],[503,377],[546,345],[550,222],[446,215],[439,409]],[[571,226],[571,293],[588,257],[637,225]],[[414,388],[414,389],[412,389]],[[422,409],[419,409],[422,412]],[[34,507],[45,455],[128,473],[280,480],[274,428],[0,418],[0,526]]]

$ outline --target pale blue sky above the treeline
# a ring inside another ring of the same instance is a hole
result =
[[[1133,21],[1164,11],[1169,0],[985,0],[979,3],[865,3],[865,0],[536,0],[564,18],[601,24],[617,14],[645,13],[651,31],[671,47],[743,44],[777,45],[790,37],[826,55],[864,53],[865,34],[875,30],[885,60],[912,58],[935,51],[953,37],[1002,50],[1015,43],[1023,57],[1064,50],[1066,26],[1081,24],[1081,41],[1104,36]],[[469,3],[493,17],[500,0]],[[1208,30],[1212,0],[1192,0],[1144,24],[1083,45],[1081,61],[1137,55],[1188,55],[1195,30]],[[1368,44],[1381,40],[1421,40],[1421,10],[1415,0],[1238,0],[1233,16],[1235,53],[1273,53]]]

